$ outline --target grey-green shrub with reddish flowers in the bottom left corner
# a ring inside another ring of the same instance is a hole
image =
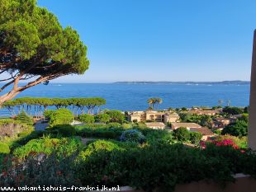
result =
[[[0,185],[12,187],[41,185],[45,188],[59,185],[81,187],[73,161],[73,156],[58,158],[54,154],[44,157],[40,162],[30,157],[23,163],[12,166],[9,171],[3,171],[0,176]]]

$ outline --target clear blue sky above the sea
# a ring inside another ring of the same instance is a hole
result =
[[[88,46],[57,82],[249,80],[255,0],[39,0]]]

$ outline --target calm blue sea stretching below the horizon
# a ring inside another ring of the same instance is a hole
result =
[[[159,109],[168,107],[192,107],[224,104],[249,105],[249,85],[173,85],[173,84],[118,84],[118,83],[50,83],[40,84],[21,92],[21,96],[38,97],[93,97],[105,98],[107,104],[102,109],[145,110],[149,97],[160,97],[163,103]],[[0,115],[7,115],[0,110]]]

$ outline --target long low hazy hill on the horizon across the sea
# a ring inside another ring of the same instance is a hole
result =
[[[222,82],[113,82],[117,84],[173,84],[173,85],[249,85],[249,81]]]

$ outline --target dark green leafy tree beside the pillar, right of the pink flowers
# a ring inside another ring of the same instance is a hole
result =
[[[248,122],[245,120],[236,120],[235,123],[227,125],[221,134],[230,134],[236,137],[246,136],[248,133]]]

